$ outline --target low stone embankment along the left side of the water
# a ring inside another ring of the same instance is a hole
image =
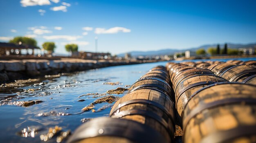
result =
[[[157,62],[157,61],[146,61]],[[70,73],[108,66],[140,64],[141,61],[84,60],[62,58],[59,60],[23,59],[0,60],[0,84],[17,79],[29,79],[58,73]]]

